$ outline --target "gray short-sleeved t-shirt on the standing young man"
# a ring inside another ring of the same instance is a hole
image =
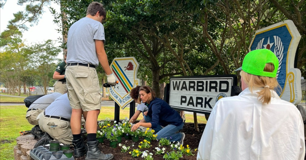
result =
[[[96,20],[84,17],[69,28],[67,35],[67,64],[84,63],[99,65],[95,39],[104,40],[104,27]]]

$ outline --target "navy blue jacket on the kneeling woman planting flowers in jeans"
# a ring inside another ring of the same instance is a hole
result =
[[[156,128],[158,124],[165,127],[169,124],[179,126],[183,123],[181,116],[162,99],[152,100],[148,109],[148,116],[152,117],[151,128]]]

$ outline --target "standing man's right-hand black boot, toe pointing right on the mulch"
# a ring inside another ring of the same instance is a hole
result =
[[[113,154],[104,154],[98,148],[99,141],[87,142],[88,151],[85,160],[110,160]]]

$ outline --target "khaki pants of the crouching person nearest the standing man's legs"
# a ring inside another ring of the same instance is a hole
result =
[[[72,144],[70,122],[56,118],[43,118],[43,129],[55,140],[63,144]]]

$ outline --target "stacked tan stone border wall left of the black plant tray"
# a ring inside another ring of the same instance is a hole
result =
[[[30,157],[30,150],[34,148],[37,140],[31,133],[16,138],[17,145],[14,147],[15,160],[34,160]]]

